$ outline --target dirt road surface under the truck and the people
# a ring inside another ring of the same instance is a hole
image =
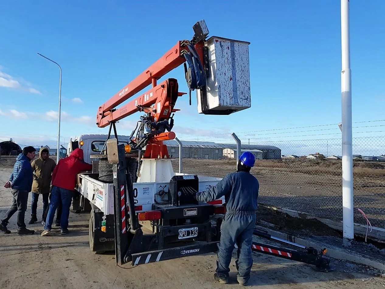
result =
[[[0,184],[7,181],[12,162],[0,163]],[[31,199],[31,198],[30,198]],[[29,202],[30,202],[29,199]],[[0,216],[12,202],[8,189],[0,187]],[[42,212],[39,202],[38,214]],[[114,254],[95,255],[88,244],[89,215],[70,213],[69,235],[41,237],[40,223],[27,225],[37,234],[18,236],[13,216],[8,225],[10,235],[0,235],[0,288],[239,288],[234,259],[231,284],[213,282],[215,254],[174,259],[131,267],[115,265]],[[26,221],[30,217],[30,205]],[[59,233],[59,230],[58,230]],[[384,288],[385,279],[368,274],[368,269],[332,260],[334,272],[316,272],[312,266],[253,253],[251,288],[329,289]],[[372,271],[370,271],[372,272]]]

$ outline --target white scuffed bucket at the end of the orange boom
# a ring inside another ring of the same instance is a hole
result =
[[[213,36],[205,42],[206,95],[197,89],[198,113],[230,114],[251,107],[250,42]]]

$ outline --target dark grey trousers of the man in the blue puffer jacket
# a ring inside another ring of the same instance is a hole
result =
[[[11,190],[13,195],[12,206],[8,209],[8,211],[4,214],[1,223],[3,226],[8,225],[8,220],[13,216],[14,213],[17,212],[17,227],[18,229],[25,228],[25,211],[27,210],[28,203],[28,192],[23,190]]]

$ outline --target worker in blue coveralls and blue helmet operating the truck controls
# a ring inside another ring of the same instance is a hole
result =
[[[236,173],[226,175],[218,184],[206,192],[196,193],[199,202],[211,202],[225,197],[227,212],[221,225],[221,240],[214,280],[221,284],[229,282],[229,265],[234,244],[238,245],[236,268],[239,285],[246,286],[253,266],[251,244],[256,222],[258,180],[251,175],[255,156],[246,151],[238,161]]]

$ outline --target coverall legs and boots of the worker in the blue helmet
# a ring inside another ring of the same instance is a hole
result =
[[[229,277],[229,265],[233,254],[234,245],[238,245],[237,259],[235,261],[240,283],[247,283],[253,266],[251,245],[256,222],[255,213],[226,213],[221,225],[221,240],[219,242],[217,269],[219,277]]]

